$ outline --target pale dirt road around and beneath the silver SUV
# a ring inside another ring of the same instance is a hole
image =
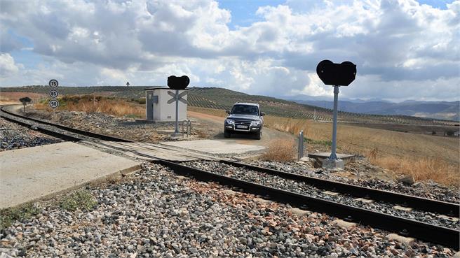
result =
[[[292,136],[292,134],[276,131],[266,127],[264,127],[262,131],[261,140],[255,140],[252,138],[252,136],[244,134],[232,134],[231,138],[224,138],[224,117],[198,113],[190,110],[187,111],[187,114],[189,115],[189,117],[191,117],[192,120],[196,120],[197,124],[199,124],[199,126],[201,127],[199,128],[199,130],[201,130],[203,134],[208,134],[212,139],[219,139],[222,141],[229,141],[232,143],[261,146],[269,146],[270,143],[276,139],[284,139],[285,141],[295,141],[295,137]]]

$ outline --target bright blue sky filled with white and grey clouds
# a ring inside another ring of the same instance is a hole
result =
[[[328,98],[323,59],[357,65],[347,99],[460,100],[460,0],[0,0],[0,87],[224,87]]]

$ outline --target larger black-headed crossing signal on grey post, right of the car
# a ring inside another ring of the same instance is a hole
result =
[[[339,87],[348,86],[356,78],[356,64],[342,62],[334,64],[329,60],[321,61],[316,66],[316,73],[325,85],[334,86],[334,115],[332,117],[332,149],[330,157],[323,161],[323,168],[344,168],[344,162],[337,157],[337,112],[339,102]]]

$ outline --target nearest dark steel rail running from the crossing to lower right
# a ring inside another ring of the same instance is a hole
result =
[[[175,162],[157,160],[154,161],[154,163],[168,166],[177,174],[192,176],[197,180],[215,181],[219,182],[221,185],[238,187],[243,189],[244,192],[261,196],[268,196],[269,199],[278,201],[280,203],[288,203],[291,206],[299,207],[302,209],[327,213],[347,221],[366,224],[387,231],[398,232],[398,234],[403,236],[413,236],[424,241],[438,243],[459,250],[460,231],[455,229],[435,226],[425,222],[405,219],[403,217],[387,215],[385,213],[353,207],[334,201],[317,199],[294,192],[276,189],[273,187],[266,187],[254,182],[239,180],[225,175],[203,171],[201,169],[194,169],[189,166],[177,164]]]

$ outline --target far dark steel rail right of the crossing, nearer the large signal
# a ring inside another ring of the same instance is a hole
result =
[[[398,203],[401,206],[415,208],[417,210],[425,210],[431,213],[440,213],[449,215],[451,217],[459,217],[460,205],[456,203],[448,203],[446,201],[437,201],[433,199],[426,199],[408,194],[400,194],[380,189],[372,189],[370,187],[362,187],[358,185],[350,185],[343,182],[336,182],[332,180],[325,180],[321,178],[313,178],[306,175],[299,175],[296,173],[289,173],[285,171],[278,171],[275,169],[267,169],[261,166],[252,166],[240,162],[233,162],[229,160],[221,160],[220,162],[236,166],[240,168],[250,169],[270,175],[277,175],[281,178],[287,178],[306,182],[314,187],[330,190],[333,192],[340,192],[342,194],[350,194],[352,196],[362,197],[365,199],[373,199],[378,201],[386,201],[388,203]]]

